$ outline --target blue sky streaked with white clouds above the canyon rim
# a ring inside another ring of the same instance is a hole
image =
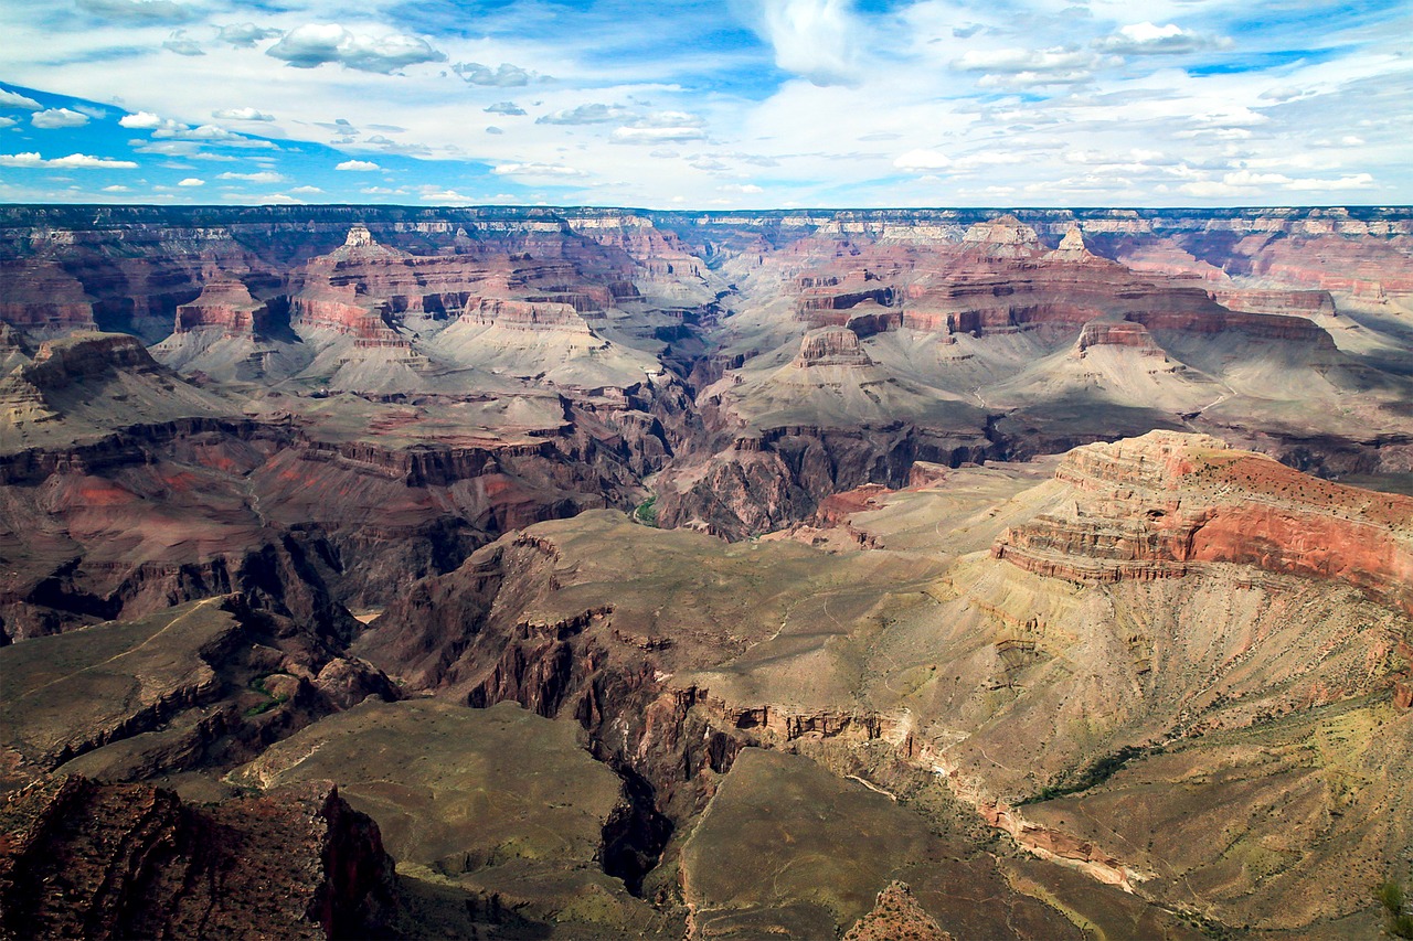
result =
[[[0,202],[1413,203],[1413,0],[0,0]]]

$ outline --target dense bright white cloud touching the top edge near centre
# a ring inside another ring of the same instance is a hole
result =
[[[853,85],[853,42],[863,27],[848,0],[764,0],[756,31],[770,42],[776,65],[815,85]]]

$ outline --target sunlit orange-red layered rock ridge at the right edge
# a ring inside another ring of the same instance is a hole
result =
[[[1006,530],[996,558],[1078,582],[1235,562],[1342,581],[1413,613],[1413,497],[1171,432],[1080,448],[1056,480],[1051,509]]]

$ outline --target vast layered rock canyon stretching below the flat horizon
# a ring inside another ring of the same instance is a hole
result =
[[[1406,208],[0,206],[0,937],[1413,876]]]

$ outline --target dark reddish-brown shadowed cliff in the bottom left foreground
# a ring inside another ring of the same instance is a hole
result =
[[[393,903],[377,825],[325,784],[194,807],[65,777],[0,805],[0,930],[34,937],[359,937]]]

